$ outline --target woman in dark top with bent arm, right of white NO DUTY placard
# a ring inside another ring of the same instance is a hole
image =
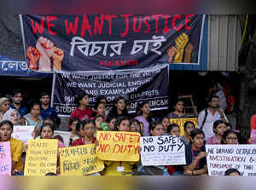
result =
[[[186,162],[184,175],[200,176],[207,175],[207,152],[204,145],[205,134],[196,129],[191,132],[191,143],[186,146]]]

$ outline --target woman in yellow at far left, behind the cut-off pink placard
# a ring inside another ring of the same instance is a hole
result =
[[[12,176],[23,176],[23,162],[21,154],[23,152],[23,143],[20,140],[11,137],[14,130],[14,125],[4,120],[0,123],[0,141],[10,142],[10,151],[12,158]]]

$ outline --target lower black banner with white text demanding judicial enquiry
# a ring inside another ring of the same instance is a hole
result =
[[[90,95],[90,106],[97,95],[105,95],[109,103],[124,96],[135,112],[137,104],[148,101],[151,110],[168,107],[168,65],[148,67],[143,70],[63,72],[55,71],[51,106],[62,116],[69,116],[77,107],[74,95],[85,91]]]

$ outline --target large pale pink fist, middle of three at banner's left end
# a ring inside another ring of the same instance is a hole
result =
[[[39,71],[51,71],[50,57],[54,53],[54,43],[52,43],[46,37],[39,37],[37,42],[37,49],[41,54],[39,59]]]

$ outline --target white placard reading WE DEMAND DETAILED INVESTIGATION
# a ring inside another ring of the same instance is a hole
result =
[[[234,168],[241,176],[256,176],[256,145],[206,145],[209,176],[224,176]]]

